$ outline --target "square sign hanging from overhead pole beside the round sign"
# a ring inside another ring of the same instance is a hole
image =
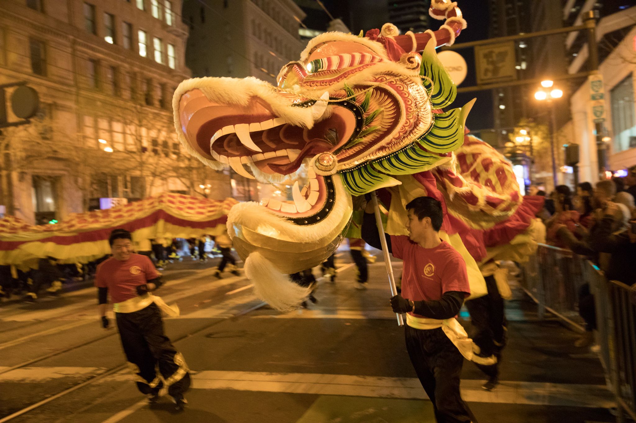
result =
[[[515,42],[475,46],[475,63],[480,85],[516,79]]]

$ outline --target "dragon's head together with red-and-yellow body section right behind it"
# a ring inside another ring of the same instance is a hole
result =
[[[485,294],[485,263],[523,261],[536,248],[543,200],[522,197],[511,164],[467,134],[474,100],[450,108],[457,88],[436,48],[453,44],[466,21],[448,0],[433,0],[429,13],[445,20],[439,30],[399,35],[387,23],[366,36],[321,34],[277,86],[204,77],[176,89],[179,140],[204,164],[269,183],[307,181],[293,184],[293,200],[244,202],[228,214],[245,274],[273,308],[307,297],[287,275],[327,259],[349,227],[352,197],[375,190],[394,235],[406,235],[411,199],[442,202],[441,234],[464,256],[473,296]]]

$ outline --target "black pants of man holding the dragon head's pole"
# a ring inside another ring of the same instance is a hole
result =
[[[459,393],[464,356],[443,330],[404,325],[406,350],[424,391],[431,398],[438,423],[476,423]]]

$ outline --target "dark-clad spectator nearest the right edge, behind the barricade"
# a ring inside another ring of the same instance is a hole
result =
[[[633,285],[636,283],[636,221],[627,220],[625,209],[622,204],[609,203],[590,243],[598,252],[610,254],[607,266],[603,266],[608,280]]]

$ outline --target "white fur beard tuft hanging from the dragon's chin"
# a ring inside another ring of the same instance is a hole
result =
[[[287,275],[258,251],[245,259],[245,276],[254,282],[254,295],[279,311],[290,311],[309,296],[311,289],[291,282]]]

